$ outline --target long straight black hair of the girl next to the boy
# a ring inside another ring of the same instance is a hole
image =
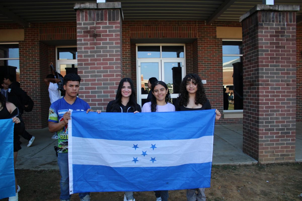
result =
[[[130,83],[130,86],[131,86],[131,95],[129,97],[128,105],[130,105],[130,107],[133,111],[138,110],[137,102],[135,99],[135,90],[134,90],[133,81],[129,77],[125,77],[122,80],[120,80],[120,83],[118,84],[117,93],[115,96],[115,100],[112,103],[112,108],[111,108],[110,112],[118,112],[120,109],[120,105],[122,104],[122,87],[123,87],[124,82]]]

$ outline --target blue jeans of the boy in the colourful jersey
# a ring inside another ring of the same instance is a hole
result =
[[[69,168],[68,168],[68,153],[58,153],[58,165],[60,169],[60,188],[61,195],[60,199],[70,199],[69,195]],[[79,197],[82,199],[86,195],[89,195],[89,192],[79,193]]]

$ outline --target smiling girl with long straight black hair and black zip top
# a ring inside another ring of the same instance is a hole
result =
[[[117,87],[115,100],[107,105],[106,112],[141,112],[142,109],[135,99],[135,90],[130,78],[123,78]],[[99,112],[99,111],[98,111]],[[124,200],[135,201],[132,191],[126,191]]]

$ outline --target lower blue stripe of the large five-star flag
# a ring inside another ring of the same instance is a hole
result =
[[[210,187],[211,165],[212,162],[147,168],[72,165],[73,193]]]

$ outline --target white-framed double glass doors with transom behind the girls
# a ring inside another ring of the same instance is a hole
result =
[[[156,77],[169,88],[172,102],[178,97],[182,78],[185,77],[185,46],[183,44],[137,45],[137,102],[146,102],[148,80]]]

